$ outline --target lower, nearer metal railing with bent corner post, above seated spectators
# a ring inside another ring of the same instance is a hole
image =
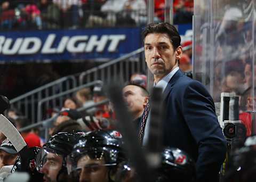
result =
[[[43,113],[45,111],[47,111],[47,109],[56,107],[57,106],[56,103],[62,104],[63,97],[71,96],[74,93],[76,93],[78,90],[81,90],[81,89],[87,88],[87,87],[91,87],[91,86],[94,86],[94,85],[102,85],[102,81],[101,80],[95,80],[95,81],[92,81],[88,84],[81,85],[79,87],[66,90],[66,91],[61,92],[59,94],[54,94],[52,96],[43,98],[42,100],[40,100],[37,103],[37,121],[42,121],[43,120],[43,117],[44,117]],[[47,112],[45,112],[45,113],[46,113],[45,117],[49,118],[50,114],[47,113]]]

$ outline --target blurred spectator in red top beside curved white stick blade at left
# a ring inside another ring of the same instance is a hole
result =
[[[18,130],[30,125],[30,121],[25,117],[19,117],[15,120],[15,123]],[[31,131],[31,129],[22,131],[20,134],[27,143],[28,147],[41,147],[41,139],[33,131]]]

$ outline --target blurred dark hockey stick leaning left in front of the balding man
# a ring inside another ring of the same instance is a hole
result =
[[[107,88],[110,101],[113,103],[114,110],[116,112],[116,118],[118,120],[117,128],[123,135],[125,150],[138,173],[139,181],[150,182],[153,178],[151,178],[148,162],[146,161],[145,154],[139,145],[135,129],[132,127],[132,117],[127,111],[121,85],[122,84],[115,82]]]

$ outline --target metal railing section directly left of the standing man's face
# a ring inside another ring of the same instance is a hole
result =
[[[79,85],[97,79],[103,82],[116,81],[117,79],[127,81],[133,73],[146,72],[145,57],[141,54],[143,50],[141,47],[115,60],[79,73]]]

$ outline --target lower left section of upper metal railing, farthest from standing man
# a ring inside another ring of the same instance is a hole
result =
[[[36,106],[37,102],[42,98],[49,97],[62,93],[65,90],[74,88],[77,86],[75,76],[67,76],[58,80],[52,81],[49,84],[31,90],[30,92],[23,94],[19,97],[15,97],[10,100],[11,108],[16,108],[21,111],[26,117],[30,118],[34,123],[36,122]],[[62,99],[62,98],[61,98]],[[39,121],[39,120],[37,120]]]

